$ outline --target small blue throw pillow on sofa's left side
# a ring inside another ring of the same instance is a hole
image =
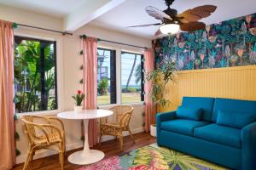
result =
[[[203,111],[201,108],[189,108],[178,106],[176,116],[178,118],[201,121]]]

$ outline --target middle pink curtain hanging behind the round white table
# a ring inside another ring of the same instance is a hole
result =
[[[84,108],[97,108],[97,41],[94,37],[83,38],[83,80],[84,80]],[[92,147],[98,143],[99,130],[97,120],[89,121],[89,145]],[[82,131],[84,128],[82,127]],[[82,132],[83,133],[83,132]],[[84,134],[84,133],[83,133]]]

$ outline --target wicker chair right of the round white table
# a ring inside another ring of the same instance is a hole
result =
[[[113,111],[113,117],[115,120],[112,122],[108,121],[108,118],[102,118],[100,120],[100,129],[101,129],[101,137],[100,142],[102,141],[103,135],[111,135],[115,136],[119,139],[120,150],[123,150],[123,132],[128,131],[131,135],[131,139],[135,143],[135,140],[132,136],[131,129],[129,127],[129,123],[131,120],[131,114],[133,112],[133,107],[128,105],[118,105],[109,109]]]

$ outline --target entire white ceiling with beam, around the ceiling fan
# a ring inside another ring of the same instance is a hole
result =
[[[62,18],[63,30],[67,31],[89,23],[147,38],[154,37],[158,26],[125,27],[158,23],[159,20],[145,12],[144,8],[148,5],[166,9],[164,0],[0,0],[0,4]],[[176,0],[172,8],[181,13],[205,4],[218,7],[214,14],[202,20],[207,25],[256,12],[255,0]]]

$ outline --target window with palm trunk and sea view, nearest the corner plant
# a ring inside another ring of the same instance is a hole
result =
[[[121,55],[122,103],[143,101],[143,55],[122,52]]]

